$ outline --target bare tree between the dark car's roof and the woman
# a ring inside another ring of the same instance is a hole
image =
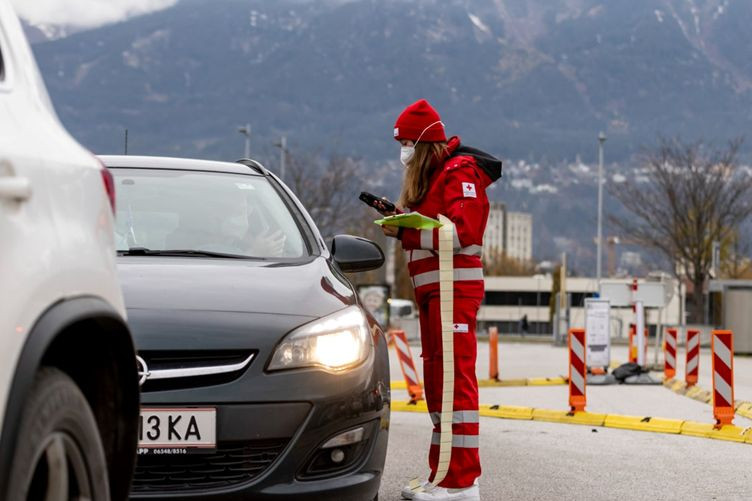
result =
[[[360,164],[349,157],[316,153],[288,154],[290,188],[311,214],[324,239],[352,226],[361,212]]]

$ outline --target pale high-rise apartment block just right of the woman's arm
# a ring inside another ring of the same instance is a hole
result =
[[[533,259],[533,215],[510,212],[503,203],[493,202],[483,235],[483,254],[500,252],[520,261]]]

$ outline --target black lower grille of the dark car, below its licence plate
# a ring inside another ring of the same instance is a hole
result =
[[[279,457],[287,439],[220,446],[211,454],[139,456],[134,493],[228,487],[253,480]]]

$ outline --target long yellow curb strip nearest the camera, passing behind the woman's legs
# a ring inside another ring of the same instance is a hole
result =
[[[395,400],[392,401],[392,410],[395,412],[428,412],[424,401],[411,404],[408,401]],[[699,423],[696,421],[667,419],[654,416],[625,416],[621,414],[598,414],[594,412],[568,412],[514,405],[480,405],[479,414],[483,417],[498,419],[578,424],[651,433],[686,435],[752,444],[752,428],[726,425],[717,429],[710,423]]]

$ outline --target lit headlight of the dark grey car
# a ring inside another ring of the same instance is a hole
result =
[[[350,306],[303,325],[274,351],[268,370],[322,367],[340,371],[363,362],[371,351],[368,322],[361,309]]]

